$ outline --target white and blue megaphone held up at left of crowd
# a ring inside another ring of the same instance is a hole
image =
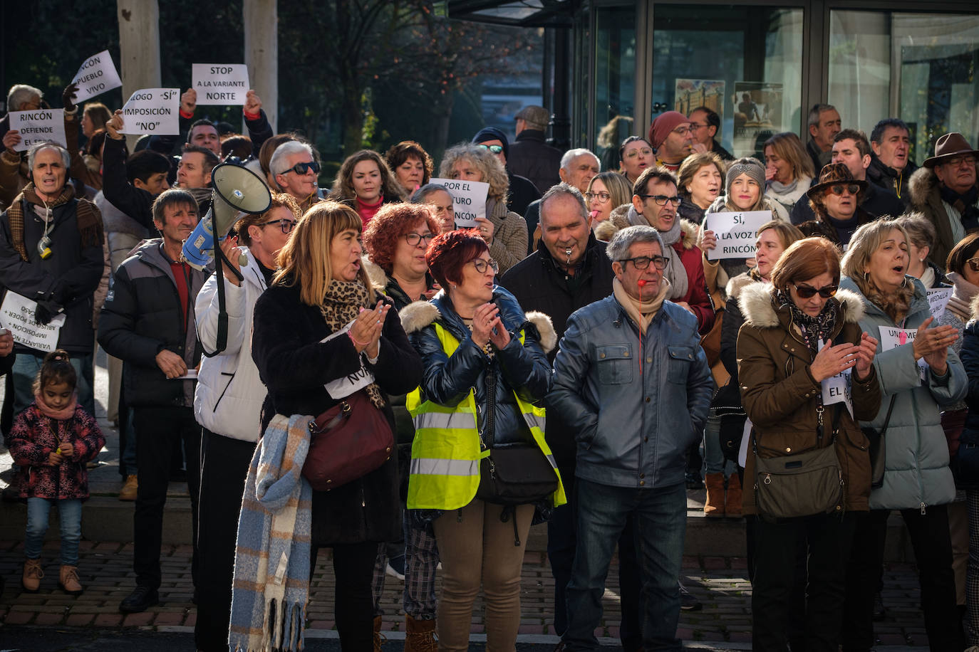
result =
[[[224,239],[241,213],[264,213],[272,205],[268,187],[255,172],[234,163],[218,163],[210,171],[214,190],[210,210],[184,242],[183,258],[199,270],[214,258],[214,237]]]

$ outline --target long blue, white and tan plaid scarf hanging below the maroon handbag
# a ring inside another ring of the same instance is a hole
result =
[[[312,490],[301,472],[311,420],[276,414],[252,457],[235,548],[233,652],[303,649]]]

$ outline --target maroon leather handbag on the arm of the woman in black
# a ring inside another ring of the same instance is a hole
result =
[[[343,487],[388,461],[395,435],[363,390],[309,421],[303,477],[317,492]]]

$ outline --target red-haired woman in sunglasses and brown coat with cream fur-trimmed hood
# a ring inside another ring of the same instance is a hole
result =
[[[756,501],[756,481],[744,483],[743,512],[759,515],[751,601],[755,650],[784,650],[789,621],[799,620],[789,613],[799,545],[807,548],[809,568],[805,639],[811,649],[826,651],[835,651],[839,641],[854,512],[867,511],[870,494],[870,457],[857,419],[872,419],[880,407],[873,368],[877,340],[859,324],[862,297],[838,290],[839,283],[836,246],[808,238],[785,250],[771,284],[741,290],[738,379],[754,424],[745,477],[755,477],[759,458],[835,446],[845,483],[841,501],[828,513],[793,518],[767,512]],[[844,375],[852,387],[852,415],[842,403],[822,402],[827,383],[841,373],[852,378]]]

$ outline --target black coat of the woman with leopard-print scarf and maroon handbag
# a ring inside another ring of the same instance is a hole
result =
[[[390,299],[385,299],[391,303]],[[360,369],[349,337],[331,334],[318,308],[300,300],[299,286],[272,285],[258,298],[252,332],[252,359],[268,388],[261,429],[276,414],[323,413],[337,404],[324,384]],[[411,348],[394,311],[381,334],[376,365],[367,364],[387,394],[405,394],[418,385],[421,360]],[[394,430],[394,414],[384,413]],[[375,471],[329,492],[312,493],[312,543],[396,541],[401,532],[397,497],[397,456]]]

